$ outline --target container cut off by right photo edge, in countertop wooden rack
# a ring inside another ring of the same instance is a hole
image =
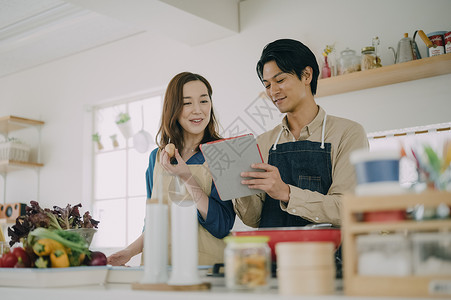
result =
[[[415,275],[451,275],[451,233],[412,234]]]

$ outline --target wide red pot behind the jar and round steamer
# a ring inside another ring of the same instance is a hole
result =
[[[272,261],[276,261],[275,245],[280,242],[333,242],[335,248],[341,243],[341,231],[339,228],[317,227],[314,225],[305,227],[277,227],[260,228],[250,231],[232,231],[233,236],[269,236],[268,245],[271,248]],[[321,225],[320,225],[321,226]]]

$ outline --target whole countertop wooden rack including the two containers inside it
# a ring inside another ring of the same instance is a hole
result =
[[[451,296],[451,219],[386,219],[423,207],[451,207],[451,193],[427,190],[383,196],[346,195],[342,203],[343,285],[349,296]],[[449,212],[449,210],[448,210]],[[393,215],[393,214],[392,214]],[[438,266],[438,267],[437,267]]]

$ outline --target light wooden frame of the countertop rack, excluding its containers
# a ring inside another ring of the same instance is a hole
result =
[[[393,196],[348,195],[343,199],[343,284],[349,296],[449,297],[451,275],[437,276],[363,276],[358,274],[356,238],[366,234],[451,232],[451,219],[424,221],[361,222],[357,218],[365,212],[405,210],[421,204],[437,207],[451,206],[451,193],[427,191],[421,194]],[[441,286],[440,286],[441,285]],[[437,292],[437,287],[442,289]],[[445,292],[443,294],[442,292]]]

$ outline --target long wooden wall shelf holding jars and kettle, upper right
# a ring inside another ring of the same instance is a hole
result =
[[[318,80],[316,97],[451,73],[451,53]]]

